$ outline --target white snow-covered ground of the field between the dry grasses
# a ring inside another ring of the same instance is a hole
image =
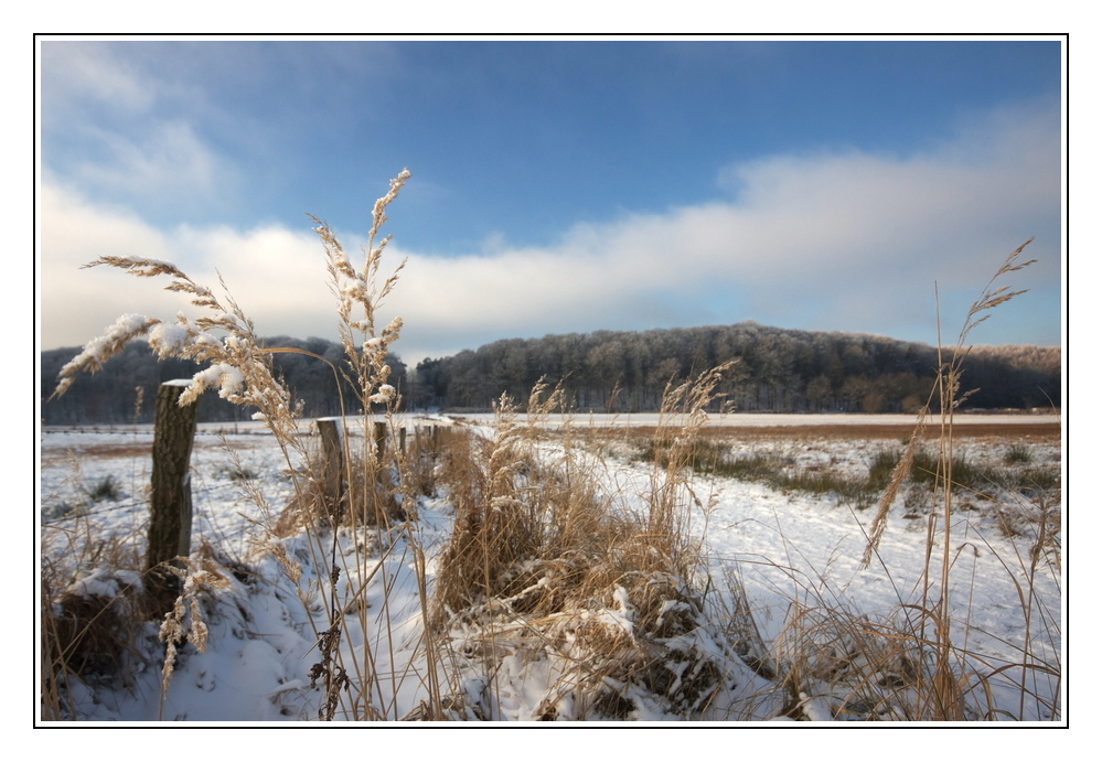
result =
[[[801,423],[842,423],[837,416],[809,417],[726,416],[713,419],[718,426],[793,426]],[[782,420],[783,418],[783,420]],[[865,426],[912,422],[909,417],[848,417]],[[985,416],[984,422],[1039,422],[1046,417]],[[482,417],[463,416],[470,426],[484,426]],[[595,421],[606,425],[607,421]],[[1050,419],[1055,420],[1055,419]],[[753,421],[752,423],[750,421]],[[410,422],[430,422],[428,420]],[[445,422],[437,419],[436,422]],[[576,423],[585,426],[585,417]],[[619,419],[620,425],[653,426],[657,420],[644,417]],[[854,473],[867,469],[878,451],[899,447],[898,439],[802,436],[792,429],[790,438],[771,438],[752,443],[735,442],[749,451],[772,451],[793,468],[831,469]],[[88,591],[113,592],[125,586],[126,575],[113,575],[104,558],[89,558],[88,537],[115,538],[124,546],[138,548],[145,541],[149,483],[151,430],[142,427],[116,430],[45,430],[41,434],[40,515],[43,564],[51,565],[54,579]],[[1059,438],[1034,438],[1023,444],[1009,438],[963,438],[957,449],[977,463],[999,464],[1010,448],[1025,447],[1031,468],[1059,471]],[[552,439],[547,448],[557,447]],[[233,452],[234,454],[231,454]],[[606,446],[606,475],[610,490],[630,495],[641,492],[653,466],[630,458],[630,448],[614,442]],[[203,543],[215,548],[223,559],[248,564],[255,576],[231,580],[222,591],[224,605],[207,614],[210,641],[205,652],[185,646],[176,659],[175,672],[167,693],[161,696],[163,645],[157,627],[149,625],[126,656],[135,677],[126,685],[93,685],[74,689],[77,719],[90,722],[185,721],[200,723],[293,722],[318,717],[323,691],[311,687],[310,669],[318,661],[317,630],[324,621],[321,599],[303,600],[270,555],[260,552],[254,543],[255,522],[270,523],[255,500],[246,494],[246,484],[260,487],[272,514],[291,498],[292,487],[285,473],[286,464],[275,438],[253,425],[201,426],[192,454],[194,494],[193,550]],[[250,476],[248,482],[242,473]],[[115,494],[93,501],[89,493],[105,480],[115,484]],[[924,548],[928,532],[927,511],[917,509],[913,495],[905,491],[892,506],[890,520],[879,545],[878,558],[867,569],[859,560],[866,544],[875,507],[855,511],[835,496],[816,497],[784,493],[760,484],[730,479],[700,476],[694,485],[698,505],[686,506],[691,534],[702,535],[714,578],[724,579],[725,569],[737,569],[742,578],[755,620],[766,643],[781,640],[791,621],[793,603],[810,609],[828,604],[855,614],[888,615],[900,603],[920,598]],[[982,654],[992,669],[1013,664],[1024,646],[1024,620],[1019,591],[1024,572],[1019,559],[1028,565],[1036,536],[1029,518],[1036,506],[1028,496],[1017,503],[994,504],[975,496],[961,501],[952,527],[956,549],[951,592],[954,620],[967,621],[970,627],[954,633],[954,642]],[[1002,517],[999,516],[1002,512]],[[434,554],[445,545],[451,527],[451,506],[446,495],[421,498],[416,532],[428,556],[431,579]],[[1013,515],[1008,515],[1013,514]],[[1013,524],[1018,533],[1007,532]],[[109,547],[105,543],[103,547]],[[285,549],[309,572],[309,550],[303,543],[285,543]],[[106,551],[105,551],[106,552]],[[368,582],[367,600],[379,600],[383,586],[388,590],[387,604],[371,611],[373,626],[383,627],[379,618],[389,622],[393,641],[378,650],[379,675],[387,676],[383,697],[387,718],[404,718],[417,708],[422,659],[414,559],[408,548],[397,544],[382,554],[376,573]],[[1034,581],[1040,605],[1056,622],[1062,620],[1062,593],[1059,575],[1051,566],[1041,566]],[[377,595],[375,588],[378,588]],[[231,604],[232,603],[232,604]],[[366,620],[365,620],[366,621]],[[1034,622],[1029,650],[1038,658],[1062,664],[1061,636],[1038,632]],[[349,635],[352,637],[352,635]],[[1053,650],[1053,644],[1056,650]],[[356,643],[345,643],[355,648]],[[413,665],[413,666],[408,666]],[[506,686],[501,719],[529,721],[538,716],[543,698],[539,686],[546,675],[533,665],[507,664]],[[525,669],[529,673],[525,673]],[[511,669],[511,672],[510,672]],[[1038,678],[1040,691],[1051,690],[1049,678]],[[1019,716],[1020,691],[995,686],[994,700]],[[751,719],[773,719],[775,706],[766,702]],[[1024,707],[1025,719],[1051,720],[1042,710]],[[642,709],[639,720],[675,720],[655,709]],[[340,719],[340,717],[338,717]]]

